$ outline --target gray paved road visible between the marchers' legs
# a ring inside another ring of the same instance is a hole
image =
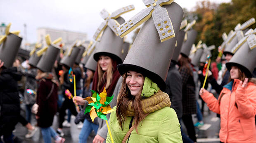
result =
[[[21,108],[24,108],[24,106],[21,105]],[[198,143],[219,143],[218,140],[218,131],[220,129],[220,120],[216,117],[216,113],[208,112],[207,106],[205,106],[204,109],[204,126],[200,128],[196,128],[196,134],[197,134],[197,142]],[[21,115],[24,115],[24,110],[21,111]],[[74,124],[74,118],[71,118],[71,127],[70,128],[64,128],[64,138],[66,138],[65,143],[78,143],[78,136],[81,131],[81,129],[78,129],[76,125]],[[193,115],[193,121],[197,122],[197,118],[195,115]],[[32,124],[36,124],[36,119],[33,116],[32,118]],[[57,129],[58,125],[58,118],[57,115],[55,115],[54,122],[53,122],[53,128]],[[183,125],[183,124],[182,124]],[[186,132],[186,129],[183,125],[183,131]],[[27,133],[27,129],[23,127],[20,123],[17,124],[16,129],[14,131],[14,135],[17,136],[21,143],[44,143],[42,135],[40,133],[40,129],[36,132],[36,134],[32,138],[25,138],[25,134]],[[88,143],[92,143],[93,136],[95,134],[91,134],[88,138]],[[54,141],[52,140],[52,143]]]

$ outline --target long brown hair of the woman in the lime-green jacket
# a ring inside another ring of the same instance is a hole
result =
[[[126,77],[127,73],[123,74],[123,83],[119,92],[119,96],[117,99],[117,104],[116,104],[116,117],[117,121],[119,122],[119,126],[123,130],[123,125],[124,122],[126,121],[126,110],[127,106],[132,101],[132,108],[135,113],[134,116],[134,125],[135,125],[135,130],[138,134],[138,125],[140,121],[142,122],[143,119],[145,119],[145,114],[142,111],[142,106],[141,106],[141,93],[142,93],[142,88],[138,92],[138,95],[133,96],[130,94],[130,90],[128,86],[126,85]],[[145,79],[145,77],[143,76]],[[143,79],[143,85],[144,85],[144,79]]]

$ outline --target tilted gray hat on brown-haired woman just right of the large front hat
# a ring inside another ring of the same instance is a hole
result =
[[[190,50],[192,48],[192,44],[195,42],[197,38],[197,31],[194,29],[190,29],[187,31],[187,40],[185,40],[182,44],[180,53],[185,56],[190,55]]]

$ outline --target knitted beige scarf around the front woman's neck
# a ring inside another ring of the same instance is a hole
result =
[[[134,116],[135,113],[132,108],[133,101],[128,104],[126,115]],[[158,90],[154,95],[141,100],[142,111],[144,113],[152,113],[164,107],[170,107],[171,101],[167,93]]]

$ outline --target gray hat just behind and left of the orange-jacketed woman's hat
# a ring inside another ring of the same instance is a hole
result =
[[[234,55],[234,53],[232,53],[232,49],[243,37],[244,37],[244,34],[241,30],[233,32],[232,35],[230,35],[227,39],[226,47],[223,54],[226,55],[227,53],[229,53],[231,55]]]

